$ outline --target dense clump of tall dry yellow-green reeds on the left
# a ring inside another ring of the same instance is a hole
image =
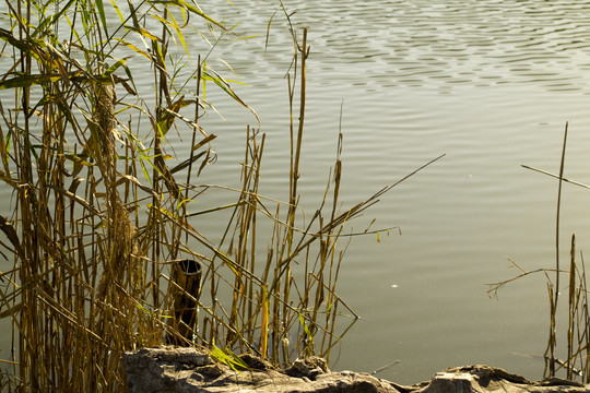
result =
[[[299,37],[282,8],[294,47],[286,202],[258,192],[266,135],[257,120],[245,134],[236,202],[194,212],[203,192],[220,189],[199,181],[216,138],[200,126],[211,107],[205,84],[251,108],[205,58],[182,63],[170,52],[190,53],[189,22],[212,32],[212,45],[232,29],[187,0],[4,4],[0,180],[12,196],[0,245],[12,267],[0,272],[0,318],[12,343],[1,353],[1,389],[120,391],[121,354],[165,342],[229,362],[234,352],[276,365],[329,358],[345,332],[339,317],[355,317],[337,294],[338,241],[394,184],[343,209],[337,154],[323,202],[298,227],[306,31]],[[152,72],[149,96],[133,79],[138,59]],[[187,64],[194,71],[182,73]],[[191,141],[187,157],[174,154],[176,138]],[[210,240],[198,221],[220,210],[231,212],[225,235]],[[185,273],[198,279],[188,285]]]

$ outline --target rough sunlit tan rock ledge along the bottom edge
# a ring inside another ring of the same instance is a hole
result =
[[[143,348],[123,355],[130,393],[550,393],[590,392],[590,385],[551,379],[531,382],[487,366],[465,366],[437,372],[411,386],[365,372],[330,371],[317,357],[296,360],[281,371],[251,355],[240,356],[247,370],[233,370],[196,348]]]

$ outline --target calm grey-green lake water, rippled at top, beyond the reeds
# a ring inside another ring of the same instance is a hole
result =
[[[248,40],[223,41],[209,64],[232,64],[236,87],[268,134],[262,192],[287,199],[287,87],[292,46],[274,0],[199,1]],[[333,164],[342,112],[345,206],[428,160],[446,157],[381,198],[356,224],[399,226],[401,235],[356,238],[340,273],[340,296],[362,317],[332,355],[335,370],[373,371],[400,383],[452,366],[486,364],[542,377],[548,332],[546,284],[533,275],[497,299],[488,283],[555,260],[557,182],[523,169],[558,172],[569,121],[565,176],[590,183],[590,4],[518,0],[294,0],[308,26],[302,203],[312,212]],[[198,41],[199,39],[196,39]],[[225,70],[227,73],[227,70]],[[146,76],[150,78],[150,76]],[[145,81],[150,86],[151,79]],[[203,127],[219,135],[205,183],[235,184],[247,110],[211,90]],[[181,156],[185,146],[175,146]],[[215,195],[215,203],[234,194]],[[565,184],[562,252],[568,234],[590,243],[590,191]],[[206,202],[204,202],[206,203]],[[214,231],[217,223],[200,223]],[[560,332],[565,340],[566,332]],[[562,348],[563,349],[563,348]],[[337,359],[338,358],[338,359]]]

